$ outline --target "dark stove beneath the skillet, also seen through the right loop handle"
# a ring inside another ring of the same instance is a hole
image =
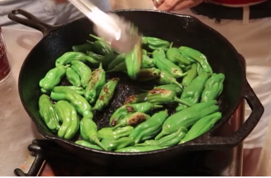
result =
[[[243,103],[216,134],[227,136],[242,122]],[[17,176],[241,176],[242,171],[242,143],[223,150],[185,152],[170,162],[144,168],[95,165],[49,140],[34,140],[28,149],[35,160],[27,173],[22,171],[26,165],[15,169]]]

